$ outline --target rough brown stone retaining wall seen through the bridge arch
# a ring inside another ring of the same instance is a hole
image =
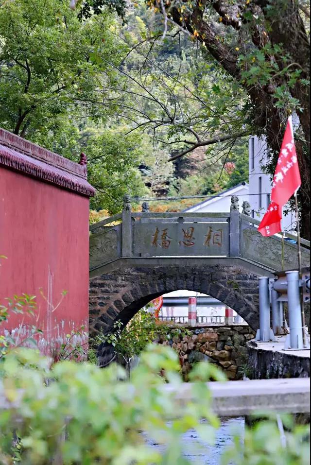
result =
[[[189,379],[194,362],[215,363],[223,369],[228,379],[241,379],[246,366],[247,341],[255,336],[249,326],[187,327],[191,335],[159,340],[159,344],[171,345],[176,350],[185,381]]]

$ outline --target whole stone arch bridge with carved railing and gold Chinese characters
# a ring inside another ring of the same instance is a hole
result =
[[[153,213],[143,208],[90,227],[90,333],[126,324],[155,297],[187,289],[207,293],[259,327],[258,277],[282,268],[281,239],[262,237],[259,221],[230,213]],[[294,239],[294,236],[291,236]],[[302,240],[309,266],[310,242]],[[297,246],[284,243],[285,270]]]

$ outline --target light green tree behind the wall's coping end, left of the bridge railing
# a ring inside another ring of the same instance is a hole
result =
[[[78,161],[77,154],[86,153],[88,181],[97,190],[90,199],[91,208],[115,214],[122,209],[125,193],[148,194],[137,168],[144,157],[142,138],[127,134],[123,125],[107,128],[87,120],[80,125],[63,122],[35,142],[73,161]]]

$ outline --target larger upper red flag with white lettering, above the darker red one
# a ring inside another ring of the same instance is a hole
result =
[[[276,163],[271,200],[283,207],[300,186],[301,178],[294,145],[292,117],[290,116]]]

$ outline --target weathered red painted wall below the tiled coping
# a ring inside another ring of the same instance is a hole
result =
[[[0,168],[0,255],[7,257],[0,259],[0,304],[14,294],[37,296],[35,317],[11,315],[0,329],[22,340],[35,324],[45,355],[72,329],[87,331],[88,215],[87,197]]]

